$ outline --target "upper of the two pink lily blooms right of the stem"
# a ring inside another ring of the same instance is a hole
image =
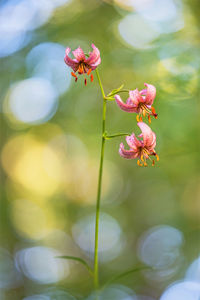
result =
[[[129,98],[124,103],[119,95],[115,95],[117,105],[126,112],[137,113],[137,121],[142,121],[142,115],[148,116],[149,123],[151,123],[150,116],[157,118],[155,108],[152,106],[156,97],[156,88],[152,84],[144,83],[146,89],[139,91],[135,89],[129,91]]]

